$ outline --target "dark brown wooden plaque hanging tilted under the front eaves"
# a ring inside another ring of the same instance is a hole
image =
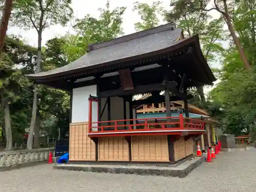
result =
[[[134,90],[132,74],[129,68],[119,70],[119,76],[121,79],[123,91]]]

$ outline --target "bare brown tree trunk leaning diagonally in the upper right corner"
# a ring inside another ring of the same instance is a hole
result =
[[[237,37],[236,35],[236,32],[232,26],[232,23],[231,23],[231,18],[228,14],[228,9],[227,9],[227,2],[226,1],[223,1],[224,2],[224,9],[225,9],[225,14],[223,13],[223,16],[225,17],[225,21],[226,21],[226,24],[228,26],[228,30],[233,38],[233,41],[234,41],[234,44],[236,45],[236,47],[238,48],[238,51],[239,51],[239,55],[240,55],[240,58],[241,60],[243,61],[244,63],[244,68],[245,70],[247,71],[251,71],[252,68],[250,66],[250,63],[245,55],[245,52],[244,52],[244,49],[241,45],[241,42],[239,40],[239,38]]]

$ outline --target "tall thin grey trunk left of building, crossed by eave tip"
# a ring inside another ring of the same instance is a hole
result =
[[[40,72],[40,67],[41,67],[41,41],[42,41],[42,30],[39,30],[38,31],[36,73]],[[27,142],[27,150],[31,150],[33,147],[33,134],[34,134],[34,129],[35,129],[36,112],[37,112],[37,85],[35,84],[32,116],[31,116],[31,122],[30,122],[30,130],[29,130],[29,138],[28,138],[28,142]]]

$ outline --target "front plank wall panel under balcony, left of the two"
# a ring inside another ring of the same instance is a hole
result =
[[[99,137],[99,161],[129,161],[129,145],[124,137]]]

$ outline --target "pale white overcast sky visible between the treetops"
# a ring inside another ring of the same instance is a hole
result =
[[[152,5],[152,3],[156,0],[138,0],[140,3],[147,3],[148,5]],[[74,10],[74,16],[75,18],[83,18],[86,14],[91,14],[92,16],[98,17],[99,11],[97,9],[99,7],[104,8],[106,4],[106,0],[95,0],[95,1],[88,1],[85,0],[72,0],[72,8]],[[115,7],[126,7],[126,11],[123,15],[123,24],[122,28],[123,31],[126,34],[131,34],[135,32],[134,24],[136,22],[140,21],[140,17],[137,14],[137,12],[133,12],[133,3],[136,2],[136,0],[126,0],[126,1],[120,1],[120,0],[111,0],[110,1],[110,9],[114,9]],[[165,10],[170,10],[170,0],[162,0],[162,7]],[[210,5],[209,5],[210,6]],[[213,17],[218,17],[219,14],[217,11],[211,11],[210,14]],[[74,19],[72,19],[74,21]],[[72,24],[72,21],[71,21]],[[71,26],[71,24],[69,24]],[[164,24],[163,21],[160,22],[160,24]],[[45,42],[51,38],[54,38],[56,36],[62,36],[67,33],[74,33],[72,28],[68,27],[62,27],[60,25],[56,26],[50,26],[48,29],[45,29],[45,31],[42,33],[42,44],[44,45]],[[28,31],[24,31],[22,29],[19,29],[18,27],[10,27],[8,29],[8,34],[15,34],[22,36],[25,41],[28,42],[28,44],[32,46],[37,46],[37,33],[35,29],[30,29]],[[207,94],[210,89],[206,88],[204,91]]]

